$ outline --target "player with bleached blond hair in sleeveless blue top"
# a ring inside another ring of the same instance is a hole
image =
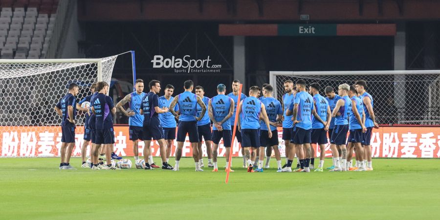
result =
[[[348,119],[352,113],[352,100],[348,96],[350,86],[341,84],[338,87],[338,94],[341,99],[338,100],[333,109],[332,116],[335,117],[334,129],[330,139],[330,149],[335,159],[334,169],[330,171],[347,171],[347,148],[345,146],[347,140],[347,132],[349,130]],[[339,160],[339,152],[336,146],[339,145],[342,153],[342,161]],[[341,169],[342,168],[342,169]]]

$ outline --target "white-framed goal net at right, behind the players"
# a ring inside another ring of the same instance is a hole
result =
[[[337,94],[340,84],[353,85],[367,81],[367,92],[374,99],[374,115],[378,124],[439,125],[440,71],[271,71],[270,84],[274,95],[281,100],[286,80],[294,83],[304,79],[307,85],[319,83],[321,95],[330,86]]]

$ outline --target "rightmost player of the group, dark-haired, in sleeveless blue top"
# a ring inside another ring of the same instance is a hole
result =
[[[354,84],[357,93],[360,94],[359,98],[364,103],[364,112],[365,112],[365,127],[367,127],[367,131],[363,133],[362,137],[362,145],[364,146],[364,163],[365,160],[367,160],[367,171],[372,171],[372,161],[371,161],[371,134],[373,128],[378,129],[379,125],[377,125],[374,117],[374,111],[373,111],[373,97],[368,94],[368,92],[365,91],[367,88],[367,82],[364,80],[359,80]]]

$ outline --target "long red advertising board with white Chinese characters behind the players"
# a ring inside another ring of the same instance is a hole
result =
[[[120,156],[133,156],[132,141],[129,140],[128,126],[115,126],[114,152]],[[282,128],[278,128],[280,152],[285,155]],[[75,130],[75,148],[72,156],[81,155],[84,143],[84,128]],[[0,127],[0,156],[1,157],[47,157],[60,156],[61,127],[57,126],[1,126]],[[319,148],[315,156],[319,156]],[[371,146],[373,157],[386,158],[439,158],[440,157],[440,128],[439,127],[384,127],[373,129]],[[90,146],[88,146],[89,148]],[[152,142],[152,154],[159,156],[159,145]],[[139,155],[142,156],[144,143],[139,142]],[[203,143],[203,156],[207,156]],[[331,157],[330,144],[326,145],[326,156]],[[242,156],[241,146],[235,140],[233,156]],[[176,153],[176,142],[172,155]],[[89,155],[89,151],[87,152]],[[220,141],[219,156],[224,156],[225,148]],[[182,156],[192,156],[191,143],[188,137],[183,145]]]

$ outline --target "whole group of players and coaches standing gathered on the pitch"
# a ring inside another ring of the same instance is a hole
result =
[[[234,80],[232,92],[226,95],[226,86],[217,86],[217,96],[204,96],[204,88],[195,87],[191,80],[184,82],[183,93],[173,97],[174,86],[166,85],[161,97],[160,82],[152,80],[148,84],[150,92],[144,92],[144,82],[137,79],[135,91],[125,96],[116,106],[107,96],[109,85],[105,82],[93,84],[93,95],[87,96],[75,105],[75,96],[79,87],[69,85],[69,92],[55,107],[62,116],[62,147],[60,169],[74,169],[69,164],[70,154],[75,142],[76,109],[87,112],[85,122],[84,145],[82,148],[83,167],[86,165],[86,149],[91,140],[91,169],[118,169],[111,159],[122,159],[113,152],[114,131],[113,116],[116,109],[129,117],[130,140],[133,142],[133,154],[139,160],[139,140],[144,141],[144,169],[160,168],[151,155],[151,140],[159,144],[162,169],[179,170],[179,162],[185,139],[189,138],[195,161],[196,171],[203,171],[202,139],[208,154],[208,167],[218,172],[217,155],[220,140],[226,149],[228,163],[232,131],[236,130],[237,141],[242,146],[243,167],[248,172],[263,172],[264,155],[269,168],[272,149],[277,160],[277,172],[310,172],[314,169],[314,151],[311,144],[319,146],[321,154],[316,172],[323,172],[325,145],[330,137],[330,149],[333,166],[330,171],[370,171],[370,139],[373,128],[378,128],[374,119],[373,97],[366,92],[367,84],[363,80],[353,86],[342,84],[338,95],[332,87],[325,88],[320,95],[321,86],[312,83],[308,87],[302,79],[294,83],[284,83],[286,93],[278,101],[273,97],[273,87],[264,84],[263,88],[252,86],[249,96],[239,94],[240,81]],[[260,97],[261,93],[263,96]],[[240,97],[240,100],[239,100]],[[82,107],[88,101],[90,107]],[[129,103],[130,110],[124,106]],[[237,127],[234,128],[235,115],[239,114]],[[294,117],[295,116],[295,117]],[[177,123],[176,123],[177,121]],[[211,130],[212,126],[212,130]],[[176,134],[177,127],[177,134]],[[282,166],[278,148],[278,130],[283,127],[283,140],[286,145],[286,163]],[[347,133],[350,131],[347,140]],[[174,140],[176,146],[176,164],[168,164]],[[355,152],[356,163],[352,165]],[[106,164],[99,155],[106,156]],[[297,155],[297,167],[292,170],[294,156]],[[349,162],[347,162],[349,161]],[[225,166],[226,167],[226,166]],[[224,168],[225,168],[224,167]],[[231,169],[230,172],[233,172]]]

